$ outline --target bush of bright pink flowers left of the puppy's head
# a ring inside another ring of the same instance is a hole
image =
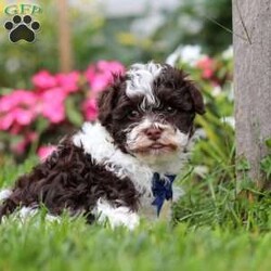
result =
[[[124,70],[115,61],[100,61],[83,73],[52,75],[40,70],[31,78],[31,90],[0,95],[2,151],[20,156],[31,150],[46,157],[53,146],[46,146],[44,142],[54,142],[83,120],[96,118],[98,93],[111,82],[113,74]],[[62,129],[56,129],[60,125]]]

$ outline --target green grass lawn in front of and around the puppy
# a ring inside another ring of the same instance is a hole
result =
[[[7,186],[35,158],[0,171]],[[193,183],[175,206],[173,224],[142,221],[139,229],[111,230],[63,216],[46,222],[41,212],[24,224],[0,225],[0,270],[271,270],[271,197],[243,183],[217,183],[216,175]],[[238,196],[254,194],[254,202]]]

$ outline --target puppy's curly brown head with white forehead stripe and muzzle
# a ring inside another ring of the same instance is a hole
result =
[[[193,131],[203,98],[181,70],[136,64],[99,101],[99,119],[115,143],[141,159],[165,159],[181,152]]]

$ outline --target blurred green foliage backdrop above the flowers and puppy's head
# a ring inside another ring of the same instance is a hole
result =
[[[3,13],[11,3],[36,3],[42,13],[35,15],[41,30],[33,44],[12,44],[0,27],[0,86],[7,88],[29,88],[27,78],[40,69],[86,69],[99,60],[165,61],[181,44],[215,55],[232,42],[224,29],[231,29],[231,0],[2,0],[1,25],[11,17]],[[70,44],[60,48],[63,35]],[[66,67],[60,51],[70,57]]]

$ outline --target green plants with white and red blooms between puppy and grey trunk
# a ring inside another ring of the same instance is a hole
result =
[[[191,164],[199,176],[217,168],[223,171],[222,179],[234,175],[232,56],[232,48],[210,57],[202,54],[199,47],[188,46],[168,57],[190,74],[204,94],[206,114],[196,118],[202,140],[195,145]]]

